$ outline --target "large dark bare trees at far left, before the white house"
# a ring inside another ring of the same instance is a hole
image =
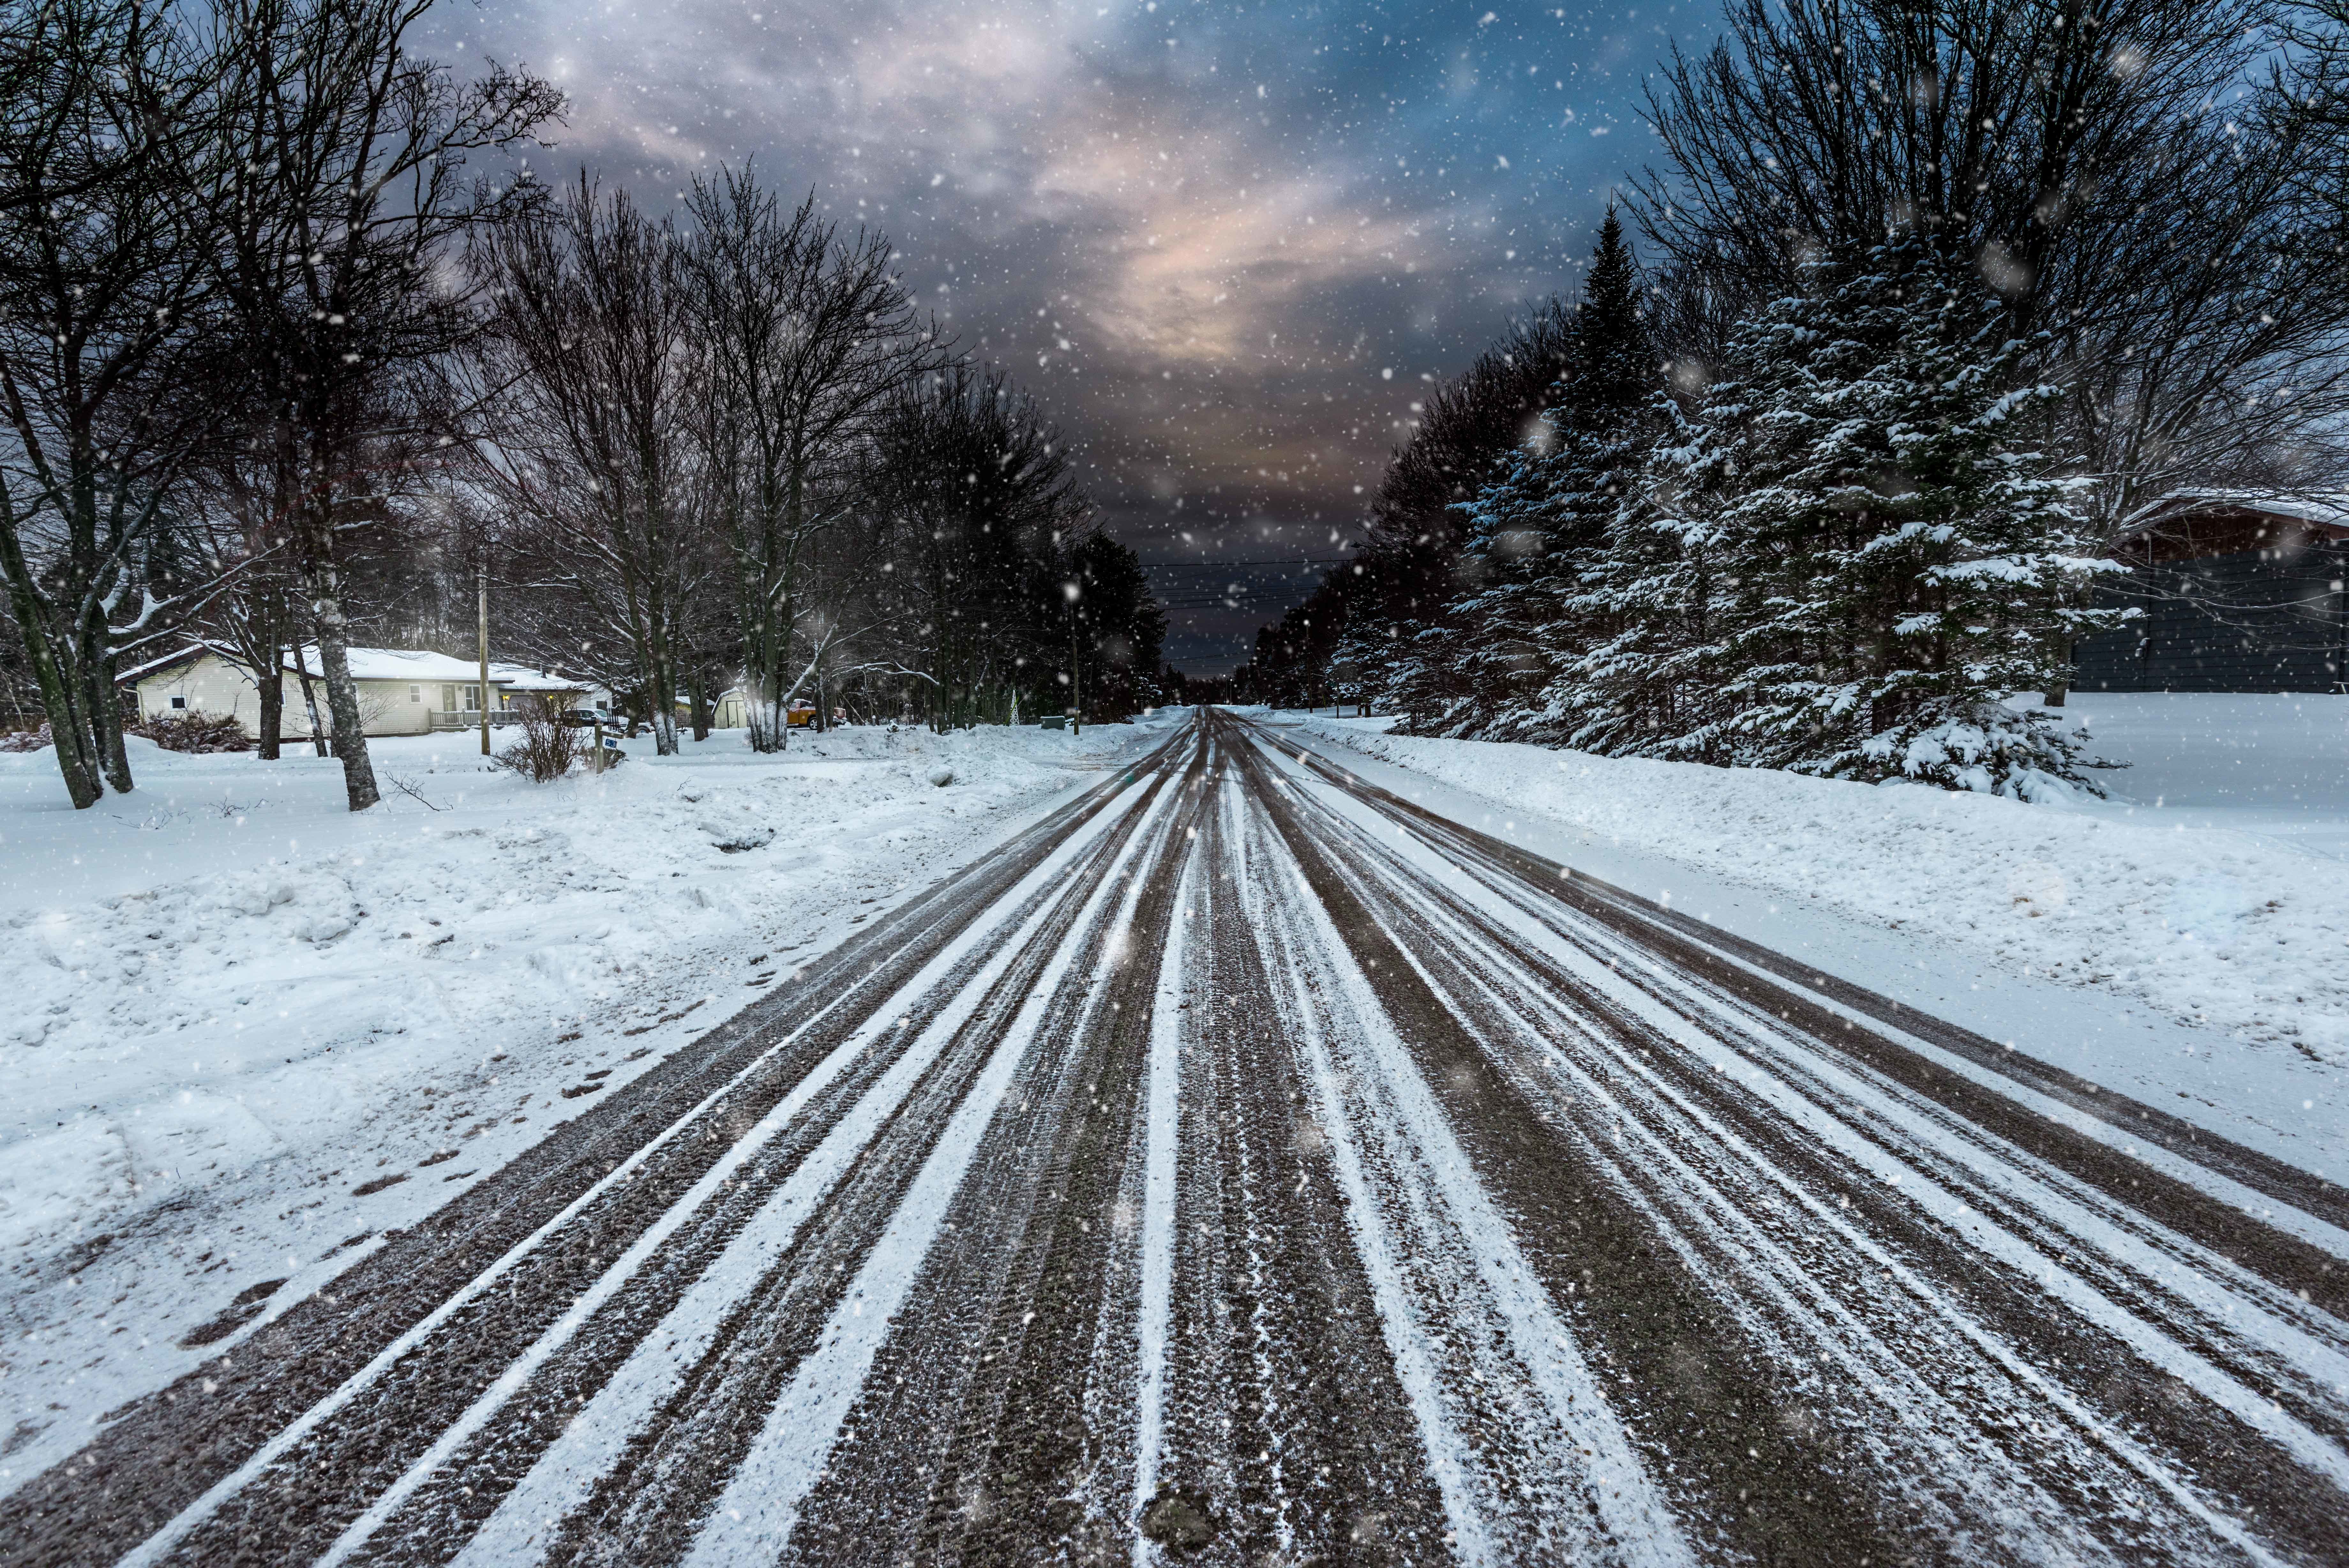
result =
[[[418,369],[470,331],[451,242],[521,207],[467,160],[559,108],[529,75],[409,56],[420,12],[0,12],[0,574],[75,806],[132,788],[117,658],[228,569],[284,583],[247,616],[301,599],[357,736],[341,531],[381,512],[430,423]],[[345,766],[371,804],[364,743]]]

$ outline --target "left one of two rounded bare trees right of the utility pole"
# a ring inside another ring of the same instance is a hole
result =
[[[583,174],[474,249],[493,303],[472,355],[474,477],[592,625],[630,651],[660,755],[677,752],[679,621],[695,550],[705,395],[679,244]]]

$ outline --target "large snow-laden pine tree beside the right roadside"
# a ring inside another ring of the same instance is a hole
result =
[[[2123,614],[2084,609],[2084,583],[2119,564],[2088,552],[2079,482],[2022,449],[2055,388],[2015,386],[2030,343],[2004,339],[1997,301],[1924,242],[1804,273],[1806,294],[1736,334],[1743,378],[1712,388],[1694,440],[1656,449],[1614,541],[1623,614],[1670,607],[1705,630],[1672,646],[1635,628],[1588,656],[1586,703],[1618,731],[1583,743],[2025,799],[2100,792],[2077,736],[2008,705],[2062,684],[2069,639]],[[1717,710],[1621,733],[1658,668],[1675,686],[1719,679]]]

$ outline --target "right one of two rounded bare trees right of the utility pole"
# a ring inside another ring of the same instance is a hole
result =
[[[815,541],[855,508],[862,444],[890,395],[937,362],[890,244],[843,235],[810,195],[785,212],[749,169],[695,179],[691,277],[709,362],[700,437],[735,567],[752,745],[780,750],[801,621],[841,623]],[[815,661],[822,668],[822,661]]]

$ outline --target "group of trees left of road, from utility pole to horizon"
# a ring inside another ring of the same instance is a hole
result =
[[[937,726],[1156,701],[1165,618],[1036,402],[916,317],[883,235],[749,172],[674,219],[585,176],[474,242],[467,548],[507,646],[639,693],[658,745],[855,691]]]

